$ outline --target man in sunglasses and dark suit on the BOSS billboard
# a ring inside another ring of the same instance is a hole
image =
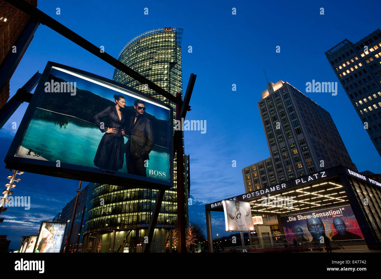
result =
[[[134,109],[136,115],[130,117],[130,122],[128,122],[130,127],[127,127],[128,135],[130,135],[126,143],[127,172],[147,176],[144,161],[149,160],[149,152],[154,143],[154,132],[151,121],[144,117],[146,103],[142,100],[135,100]]]

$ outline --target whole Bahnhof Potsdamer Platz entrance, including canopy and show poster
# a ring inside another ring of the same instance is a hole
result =
[[[327,236],[343,245],[348,241],[369,249],[381,245],[381,184],[342,166],[229,200],[250,202],[253,215],[276,215],[288,243]],[[210,211],[223,212],[223,201],[207,204],[205,210],[209,251],[213,251]]]

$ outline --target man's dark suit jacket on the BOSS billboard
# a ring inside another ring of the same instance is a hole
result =
[[[144,116],[140,116],[136,119],[136,123],[134,123],[135,116],[130,117],[128,135],[128,141],[126,143],[125,151],[126,155],[129,152],[129,156],[133,158],[139,158],[140,156],[143,159],[149,160],[149,152],[151,152],[152,147],[154,145],[154,131],[152,129],[152,123],[149,119]],[[128,149],[129,148],[129,149]]]

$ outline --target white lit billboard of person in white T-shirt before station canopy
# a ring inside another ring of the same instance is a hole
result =
[[[249,202],[223,200],[226,231],[253,231]]]

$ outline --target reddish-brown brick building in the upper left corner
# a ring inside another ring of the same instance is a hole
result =
[[[37,0],[26,0],[29,4],[37,6]],[[12,6],[7,1],[0,0],[0,64],[3,63],[8,51],[16,42],[22,29],[28,22],[30,16]],[[0,108],[9,99],[10,84],[9,80],[0,93]]]

